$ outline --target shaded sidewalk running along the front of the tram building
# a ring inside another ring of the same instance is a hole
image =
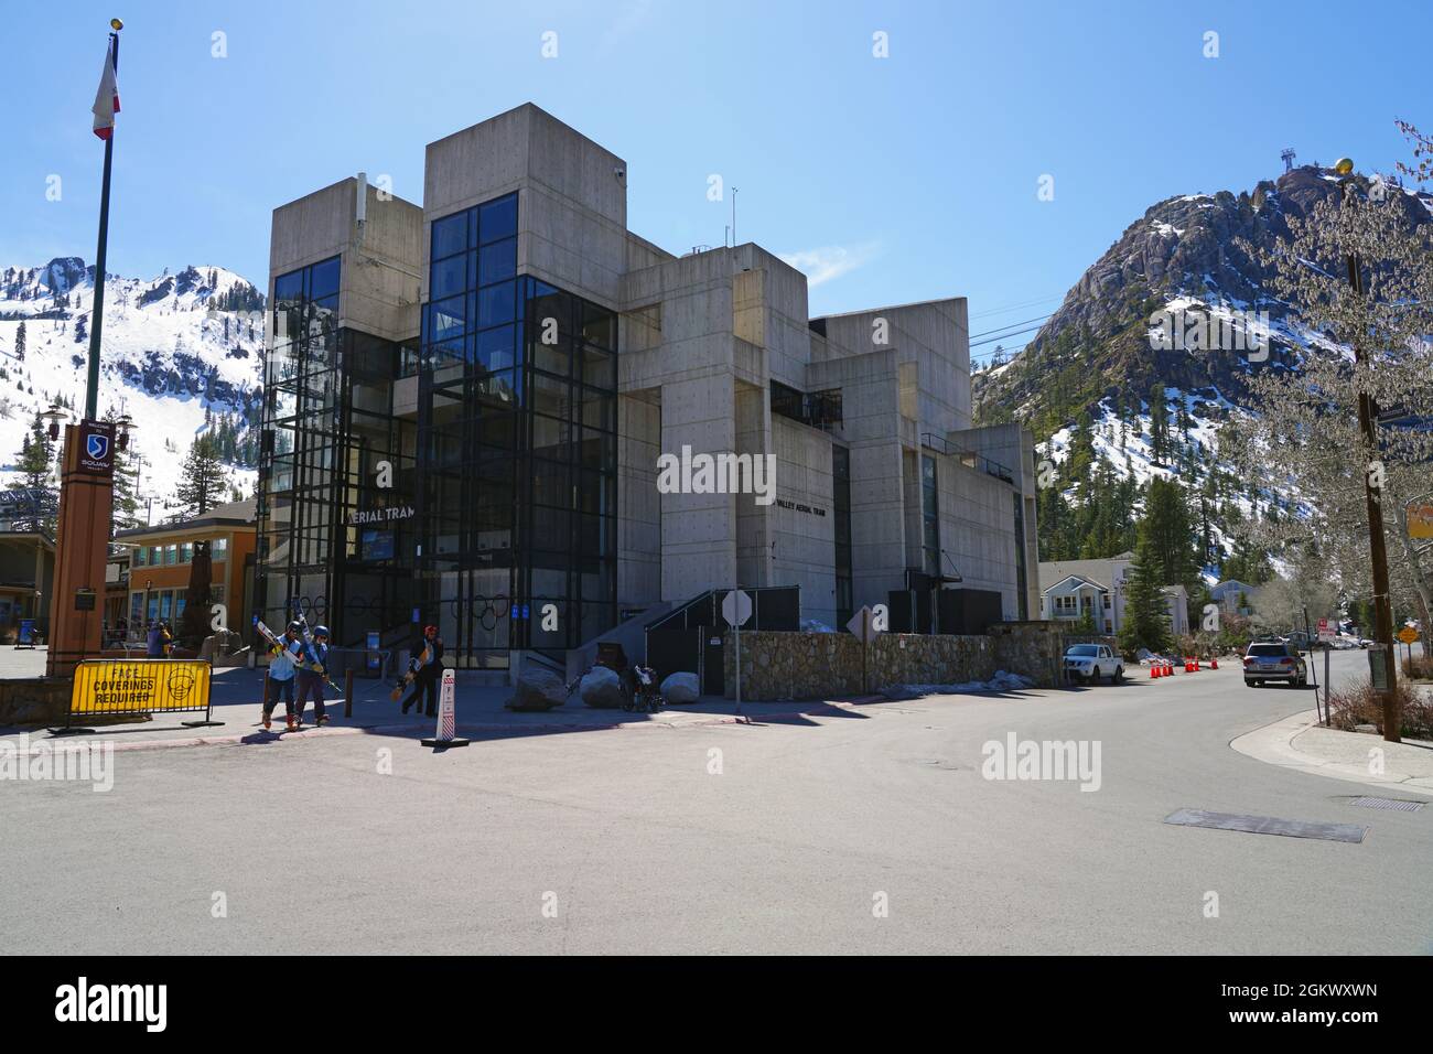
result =
[[[304,711],[304,730],[284,733],[284,704],[274,711],[274,728],[265,731],[259,724],[262,707],[259,697],[264,690],[264,673],[246,668],[218,668],[214,671],[209,698],[214,720],[222,724],[206,728],[186,728],[183,721],[203,720],[203,713],[155,714],[149,721],[97,726],[93,734],[54,737],[49,728],[0,728],[0,743],[17,743],[21,734],[29,736],[32,750],[39,743],[113,743],[116,750],[162,750],[168,747],[196,746],[244,746],[277,743],[281,740],[304,740],[322,736],[393,736],[398,739],[423,739],[433,736],[434,718],[424,717],[417,710],[403,714],[400,704],[388,698],[393,683],[388,680],[354,680],[353,717],[344,717],[342,700],[334,700],[330,688],[327,713],[330,724],[314,727],[314,707],[310,703]],[[513,713],[503,703],[512,697],[512,688],[464,684],[461,673],[457,687],[457,727],[467,739],[500,739],[510,736],[537,736],[569,731],[605,731],[613,728],[684,728],[704,724],[737,724],[749,720],[762,723],[811,723],[813,717],[848,716],[860,717],[857,710],[867,703],[887,703],[881,695],[854,700],[810,701],[810,703],[744,703],[742,716],[737,714],[732,700],[704,695],[696,703],[669,707],[656,714],[626,713],[623,710],[593,710],[583,706],[576,693],[566,706],[542,713]]]

